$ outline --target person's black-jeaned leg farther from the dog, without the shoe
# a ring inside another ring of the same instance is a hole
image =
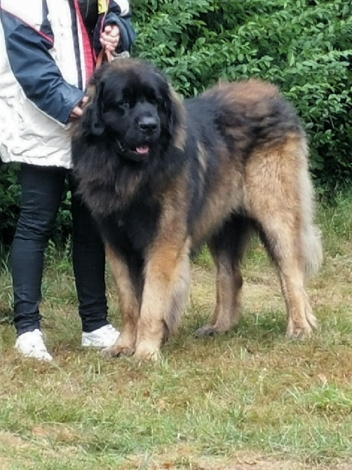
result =
[[[44,250],[53,231],[66,170],[22,165],[20,217],[11,248],[14,322],[18,335],[40,329]]]

